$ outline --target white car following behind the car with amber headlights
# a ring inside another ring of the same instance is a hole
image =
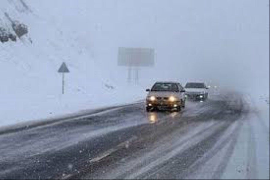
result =
[[[208,87],[203,82],[187,82],[185,90],[188,99],[202,101],[208,98]]]

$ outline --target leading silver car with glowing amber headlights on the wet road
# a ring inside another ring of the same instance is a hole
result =
[[[156,82],[146,89],[146,111],[177,110],[185,107],[185,90],[179,82]]]

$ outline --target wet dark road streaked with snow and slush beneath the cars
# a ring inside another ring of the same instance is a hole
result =
[[[269,179],[269,145],[262,167],[256,143],[269,130],[254,130],[256,118],[243,96],[223,94],[180,113],[137,103],[5,131],[0,179]]]

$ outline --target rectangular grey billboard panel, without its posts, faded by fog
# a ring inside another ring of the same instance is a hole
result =
[[[119,66],[154,66],[155,50],[151,48],[119,47]]]

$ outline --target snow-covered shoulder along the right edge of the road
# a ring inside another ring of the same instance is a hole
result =
[[[221,179],[269,179],[269,95],[248,93],[250,113],[244,117],[233,154]]]

